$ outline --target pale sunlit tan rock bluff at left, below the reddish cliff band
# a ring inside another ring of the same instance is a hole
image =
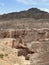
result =
[[[14,47],[14,44],[15,44],[15,39],[12,39],[12,38],[2,38],[0,39],[0,43],[3,43],[5,44],[6,46],[9,46],[9,47]]]

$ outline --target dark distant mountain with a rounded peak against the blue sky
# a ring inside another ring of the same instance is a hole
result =
[[[49,19],[49,13],[41,11],[37,8],[31,8],[25,11],[12,12],[4,15],[0,15],[0,20],[9,20],[16,18],[34,18],[34,19]]]

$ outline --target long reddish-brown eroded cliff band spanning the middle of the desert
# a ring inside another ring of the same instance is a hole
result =
[[[19,36],[21,36],[22,38],[27,38],[30,36],[30,38],[32,40],[40,40],[40,39],[46,39],[49,38],[49,29],[33,29],[33,30],[14,30],[14,29],[10,29],[10,30],[5,30],[2,31],[2,33],[0,34],[1,38],[19,38]],[[27,38],[28,41],[30,38]],[[30,40],[31,40],[30,39]]]

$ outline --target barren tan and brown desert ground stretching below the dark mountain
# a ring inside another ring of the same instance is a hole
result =
[[[49,19],[5,19],[3,16],[3,20],[0,19],[0,65],[49,65]]]

